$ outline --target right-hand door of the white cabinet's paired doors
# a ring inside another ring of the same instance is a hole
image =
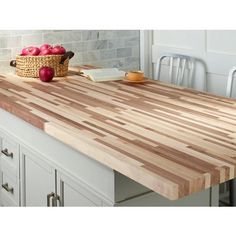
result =
[[[58,172],[61,206],[101,206],[102,200],[79,180]]]

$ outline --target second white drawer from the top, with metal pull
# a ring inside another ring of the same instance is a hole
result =
[[[5,199],[7,202],[14,202],[18,205],[19,202],[19,184],[17,178],[10,177],[7,173],[1,172],[2,183],[1,183],[1,196],[2,200]]]

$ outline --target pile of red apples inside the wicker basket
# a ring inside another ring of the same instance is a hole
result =
[[[52,46],[43,44],[41,47],[26,47],[21,51],[21,56],[46,56],[46,55],[62,55],[66,53],[66,49],[61,45]]]

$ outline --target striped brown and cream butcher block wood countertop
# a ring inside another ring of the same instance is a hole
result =
[[[0,107],[171,200],[236,176],[236,100],[151,80],[5,74]]]

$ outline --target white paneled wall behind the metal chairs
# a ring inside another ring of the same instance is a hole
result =
[[[230,30],[155,30],[151,57],[153,66],[162,52],[197,57],[205,62],[207,87],[211,93],[225,95],[227,75],[236,65],[236,31]],[[196,67],[195,88],[201,89],[204,67]],[[236,84],[236,83],[235,83]],[[236,86],[233,89],[236,97]]]

